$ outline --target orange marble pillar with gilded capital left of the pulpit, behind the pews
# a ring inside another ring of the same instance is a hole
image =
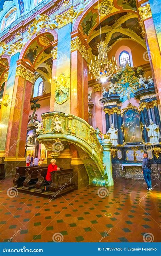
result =
[[[14,93],[8,122],[6,159],[25,156],[25,142],[30,111],[30,99],[35,70],[23,60],[17,61]]]

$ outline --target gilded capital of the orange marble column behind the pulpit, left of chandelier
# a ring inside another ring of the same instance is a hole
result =
[[[87,53],[86,47],[82,44],[78,37],[71,41],[71,52],[76,50],[79,51],[79,53],[86,61],[89,59],[89,54]]]

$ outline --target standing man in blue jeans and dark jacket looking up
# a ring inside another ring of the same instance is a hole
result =
[[[142,173],[144,174],[144,179],[147,184],[147,190],[152,190],[151,186],[151,163],[150,159],[147,157],[147,154],[144,153],[143,155],[143,165],[142,165]]]

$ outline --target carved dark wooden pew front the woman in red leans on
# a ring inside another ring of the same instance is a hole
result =
[[[51,174],[52,183],[49,187],[49,195],[52,195],[51,199],[74,190],[74,185],[72,184],[73,168],[53,171]]]

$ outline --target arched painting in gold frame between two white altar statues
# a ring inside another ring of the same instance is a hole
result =
[[[125,142],[142,142],[142,132],[139,113],[128,110],[123,115]]]

